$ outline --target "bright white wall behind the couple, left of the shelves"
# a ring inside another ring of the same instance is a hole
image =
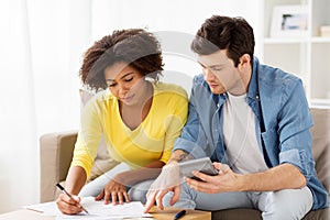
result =
[[[38,202],[38,138],[78,128],[78,69],[92,42],[114,29],[147,28],[164,43],[167,77],[189,87],[200,72],[189,37],[205,19],[244,16],[261,55],[262,9],[260,0],[1,1],[0,213]]]

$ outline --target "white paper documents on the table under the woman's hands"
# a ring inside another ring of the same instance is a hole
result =
[[[142,218],[152,217],[150,213],[143,213],[144,207],[140,201],[131,201],[123,205],[105,205],[103,201],[96,201],[94,197],[81,198],[81,205],[89,212],[80,212],[78,215],[63,215],[55,204],[45,202],[24,208],[42,212],[46,216],[56,216],[56,220],[75,220],[75,219],[123,219],[123,218]]]

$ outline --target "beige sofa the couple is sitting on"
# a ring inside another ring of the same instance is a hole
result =
[[[315,125],[312,133],[312,153],[316,161],[316,170],[327,190],[330,189],[330,109],[310,109]],[[77,139],[77,131],[47,133],[40,138],[41,158],[41,202],[52,201],[59,191],[55,184],[65,180],[73,157],[73,150]],[[106,152],[103,143],[92,167],[91,179],[102,172],[116,166]],[[330,193],[330,191],[329,191]],[[254,209],[229,209],[212,212],[212,219],[240,220],[262,219],[261,212]],[[328,220],[330,208],[310,211],[304,220]]]

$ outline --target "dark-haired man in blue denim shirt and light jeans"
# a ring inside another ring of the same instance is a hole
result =
[[[191,50],[202,75],[194,79],[188,121],[145,211],[157,202],[161,209],[255,208],[264,219],[301,219],[329,206],[315,170],[301,80],[258,63],[253,29],[242,18],[206,20]],[[219,175],[194,172],[202,182],[184,178],[180,186],[177,163],[205,156]]]

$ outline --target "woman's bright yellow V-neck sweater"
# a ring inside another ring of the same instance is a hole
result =
[[[90,175],[99,141],[103,135],[109,154],[131,168],[154,161],[167,163],[175,140],[187,121],[186,91],[172,84],[153,84],[152,107],[144,121],[130,130],[122,121],[118,99],[107,89],[86,105],[72,166],[81,166]]]

